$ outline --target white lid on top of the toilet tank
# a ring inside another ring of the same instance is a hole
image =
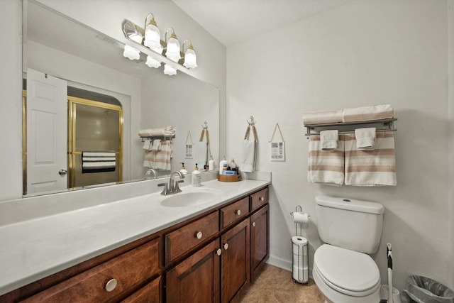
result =
[[[333,207],[335,209],[346,209],[349,211],[360,211],[369,214],[383,214],[384,207],[382,204],[377,202],[356,200],[356,199],[345,199],[338,197],[329,196],[317,196],[315,197],[317,205]]]

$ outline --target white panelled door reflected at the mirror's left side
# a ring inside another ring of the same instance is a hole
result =
[[[27,194],[67,188],[67,82],[27,70]]]

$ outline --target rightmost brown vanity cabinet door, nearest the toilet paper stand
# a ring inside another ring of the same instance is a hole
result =
[[[268,259],[270,229],[268,205],[250,216],[250,280],[255,280]]]

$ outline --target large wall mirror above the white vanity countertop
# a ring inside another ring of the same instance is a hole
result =
[[[146,148],[144,139],[138,133],[145,128],[175,128],[175,138],[171,140],[171,168],[158,170],[158,177],[167,177],[170,172],[179,170],[180,162],[184,162],[189,172],[193,170],[198,162],[197,151],[194,150],[193,156],[188,157],[186,145],[194,143],[192,146],[197,148],[196,143],[205,125],[209,130],[209,152],[215,160],[218,159],[219,90],[216,87],[181,71],[173,76],[164,75],[162,68],[145,65],[145,55],[139,60],[129,60],[123,57],[123,43],[37,1],[23,0],[23,11],[23,103],[26,109],[23,145],[28,147],[28,150],[24,149],[24,162],[30,162],[26,159],[33,152],[30,148],[35,140],[45,138],[44,144],[54,143],[49,131],[39,131],[39,128],[36,131],[34,124],[36,121],[43,125],[52,124],[54,122],[49,121],[53,120],[29,114],[29,99],[39,93],[51,95],[47,84],[40,89],[33,82],[35,73],[35,77],[43,77],[45,81],[56,79],[67,85],[67,96],[64,98],[66,116],[63,122],[57,123],[57,128],[67,135],[65,150],[58,152],[60,156],[64,154],[67,164],[52,168],[52,174],[57,179],[65,178],[65,171],[75,165],[74,171],[80,173],[84,169],[89,174],[85,179],[90,180],[84,184],[74,181],[73,175],[70,180],[62,182],[65,184],[62,187],[50,183],[43,183],[40,187],[39,182],[37,186],[30,187],[28,183],[34,172],[28,163],[23,169],[24,197],[144,180],[148,170],[144,166]],[[118,31],[122,31],[122,24],[118,24]],[[32,116],[35,116],[33,123],[29,121]],[[112,117],[111,120],[109,117]],[[84,142],[74,142],[75,128],[77,134],[85,132],[84,136],[79,136]],[[109,132],[104,134],[101,131]],[[93,147],[88,142],[96,133],[99,136],[94,141],[101,141],[99,138],[105,141],[99,147]],[[192,141],[188,139],[189,133]],[[89,147],[84,150],[77,146]],[[80,159],[84,151],[87,157],[89,152],[99,153],[90,156],[106,157],[101,161],[106,165],[105,169],[91,169],[88,160],[87,167],[82,167]],[[54,154],[57,152],[49,151],[38,156],[46,162],[58,156]],[[116,165],[115,173],[107,163],[111,160]],[[117,180],[112,182],[106,178],[109,174],[115,175]]]

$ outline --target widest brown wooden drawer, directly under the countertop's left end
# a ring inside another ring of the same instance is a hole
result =
[[[112,302],[159,270],[159,238],[22,302]],[[116,283],[115,283],[116,282]],[[114,287],[114,285],[116,285]],[[110,291],[107,290],[111,287]]]

